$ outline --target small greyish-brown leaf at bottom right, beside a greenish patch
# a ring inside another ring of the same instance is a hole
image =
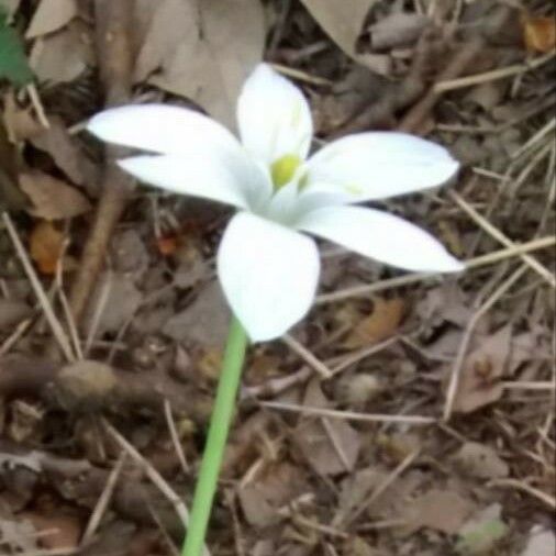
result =
[[[409,504],[404,519],[410,531],[426,527],[453,535],[472,510],[472,503],[459,492],[431,489]]]

